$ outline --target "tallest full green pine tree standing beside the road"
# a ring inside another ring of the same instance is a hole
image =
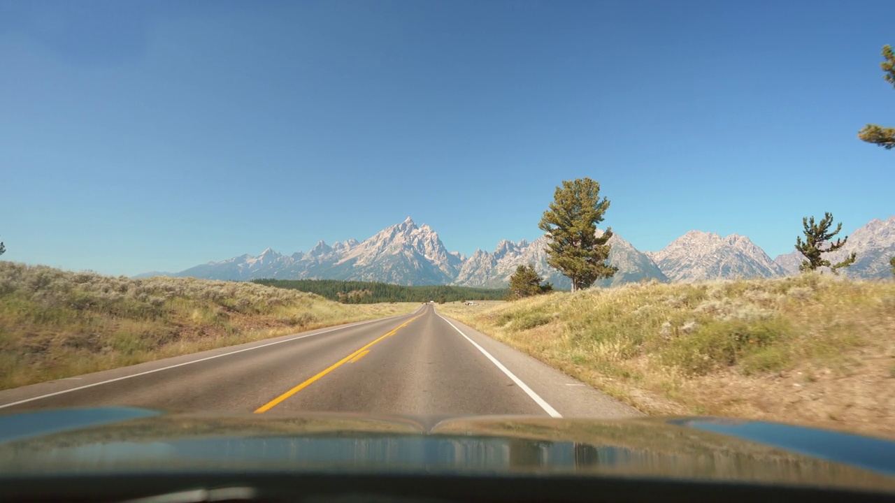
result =
[[[573,292],[618,270],[606,264],[612,230],[596,235],[607,209],[609,200],[600,200],[600,183],[585,177],[563,181],[541,217],[538,226],[550,238],[547,263],[572,280]]]

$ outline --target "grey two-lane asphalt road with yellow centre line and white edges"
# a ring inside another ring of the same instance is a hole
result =
[[[422,305],[312,330],[0,391],[0,413],[131,405],[167,411],[639,415]]]

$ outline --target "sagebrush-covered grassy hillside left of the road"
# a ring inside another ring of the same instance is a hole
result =
[[[0,261],[0,389],[413,311],[283,288]]]

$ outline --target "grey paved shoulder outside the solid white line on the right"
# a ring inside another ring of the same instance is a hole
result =
[[[566,418],[622,418],[642,416],[644,413],[630,405],[573,379],[528,354],[505,345],[482,332],[439,314],[456,328],[456,331],[479,345],[495,360],[512,372],[534,394]]]

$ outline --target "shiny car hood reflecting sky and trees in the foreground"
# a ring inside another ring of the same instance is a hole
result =
[[[0,415],[0,480],[266,471],[625,476],[895,493],[895,442],[707,417],[594,421],[121,407]]]

